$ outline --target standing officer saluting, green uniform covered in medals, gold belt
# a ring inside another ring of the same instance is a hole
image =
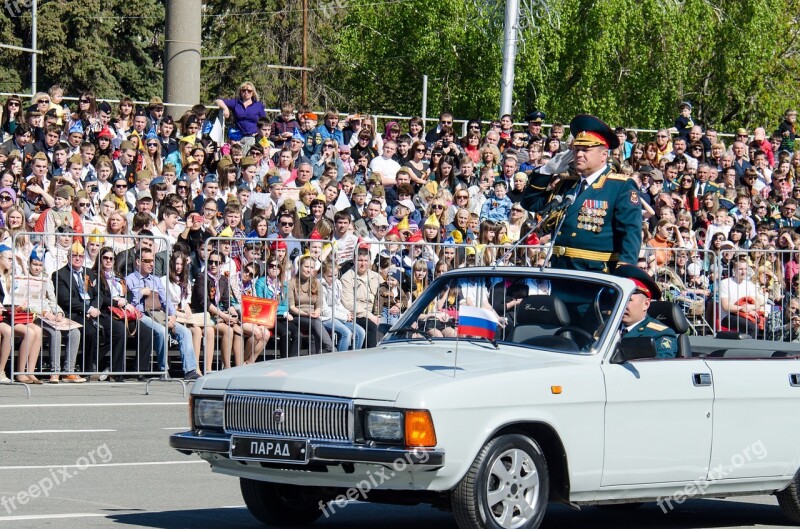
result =
[[[636,263],[642,245],[639,190],[607,163],[609,149],[616,149],[619,139],[611,127],[588,114],[576,116],[570,130],[571,149],[531,173],[522,207],[535,213],[555,195],[574,197],[554,234],[555,268],[608,272],[618,264]],[[557,176],[573,162],[577,178]]]

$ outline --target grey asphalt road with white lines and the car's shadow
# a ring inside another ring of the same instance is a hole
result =
[[[0,529],[150,527],[226,529],[260,525],[238,482],[170,449],[188,422],[177,383],[37,386],[30,399],[0,386]],[[46,493],[45,493],[45,489]],[[31,495],[22,496],[28,491]],[[38,494],[37,494],[38,493]],[[36,495],[37,497],[33,497]],[[455,529],[429,507],[353,503],[313,527]],[[580,512],[551,506],[542,527],[688,529],[789,527],[771,496],[688,501],[668,514]]]

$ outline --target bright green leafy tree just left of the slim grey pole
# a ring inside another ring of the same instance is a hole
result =
[[[336,78],[359,109],[486,115],[499,97],[500,31],[475,4],[448,0],[356,3],[337,33]],[[491,112],[491,111],[490,111]]]

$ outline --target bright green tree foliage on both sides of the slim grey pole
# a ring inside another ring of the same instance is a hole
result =
[[[724,129],[777,125],[797,103],[797,0],[527,0],[514,86],[518,118],[593,112],[659,127],[689,100]],[[488,15],[487,15],[488,13]],[[342,92],[363,108],[493,117],[502,9],[449,0],[354,5],[339,32]],[[502,21],[501,21],[502,22]]]

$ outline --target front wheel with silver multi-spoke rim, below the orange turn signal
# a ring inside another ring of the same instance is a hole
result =
[[[535,529],[547,509],[547,462],[533,439],[508,434],[486,443],[452,492],[461,529]]]

